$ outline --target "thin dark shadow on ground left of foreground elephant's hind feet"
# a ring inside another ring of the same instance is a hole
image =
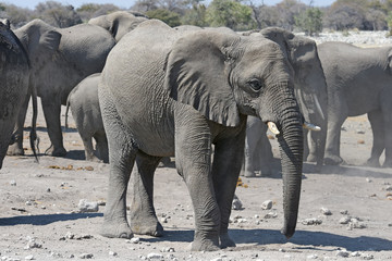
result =
[[[101,217],[102,213],[72,213],[72,214],[44,214],[44,215],[17,215],[1,217],[0,226],[12,225],[48,225],[56,222]]]

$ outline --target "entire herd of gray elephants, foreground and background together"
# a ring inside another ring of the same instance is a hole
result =
[[[368,114],[368,164],[379,166],[385,150],[383,165],[392,166],[392,47],[316,46],[277,27],[172,28],[128,12],[69,28],[34,20],[12,32],[0,23],[0,167],[5,153],[24,153],[30,97],[34,108],[41,99],[48,151],[65,156],[60,111],[66,104],[86,160],[110,162],[100,232],[107,237],[162,235],[154,173],[162,158],[175,156],[195,211],[192,250],[235,246],[228,226],[240,173],[273,171],[267,126],[280,145],[287,238],[297,222],[303,160],[342,163],[347,116]]]

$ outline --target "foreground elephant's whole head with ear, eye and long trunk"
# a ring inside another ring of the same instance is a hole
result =
[[[279,133],[282,233],[290,238],[301,194],[303,116],[294,96],[292,66],[279,45],[259,34],[243,37],[200,30],[176,41],[166,66],[164,86],[174,100],[224,126],[238,126],[244,123],[242,115],[256,115]]]

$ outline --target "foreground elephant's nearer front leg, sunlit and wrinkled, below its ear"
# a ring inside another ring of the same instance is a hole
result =
[[[212,185],[209,126],[197,112],[184,114],[176,116],[175,164],[194,207],[196,228],[191,249],[215,251],[220,249],[220,211]]]

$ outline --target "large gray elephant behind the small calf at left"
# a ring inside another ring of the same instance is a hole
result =
[[[34,20],[15,30],[30,60],[29,84],[41,98],[51,154],[66,154],[60,123],[61,104],[86,76],[101,72],[106,58],[115,45],[113,37],[95,25],[56,28]],[[25,99],[15,127],[16,142],[9,154],[23,154],[23,124],[28,99]]]

